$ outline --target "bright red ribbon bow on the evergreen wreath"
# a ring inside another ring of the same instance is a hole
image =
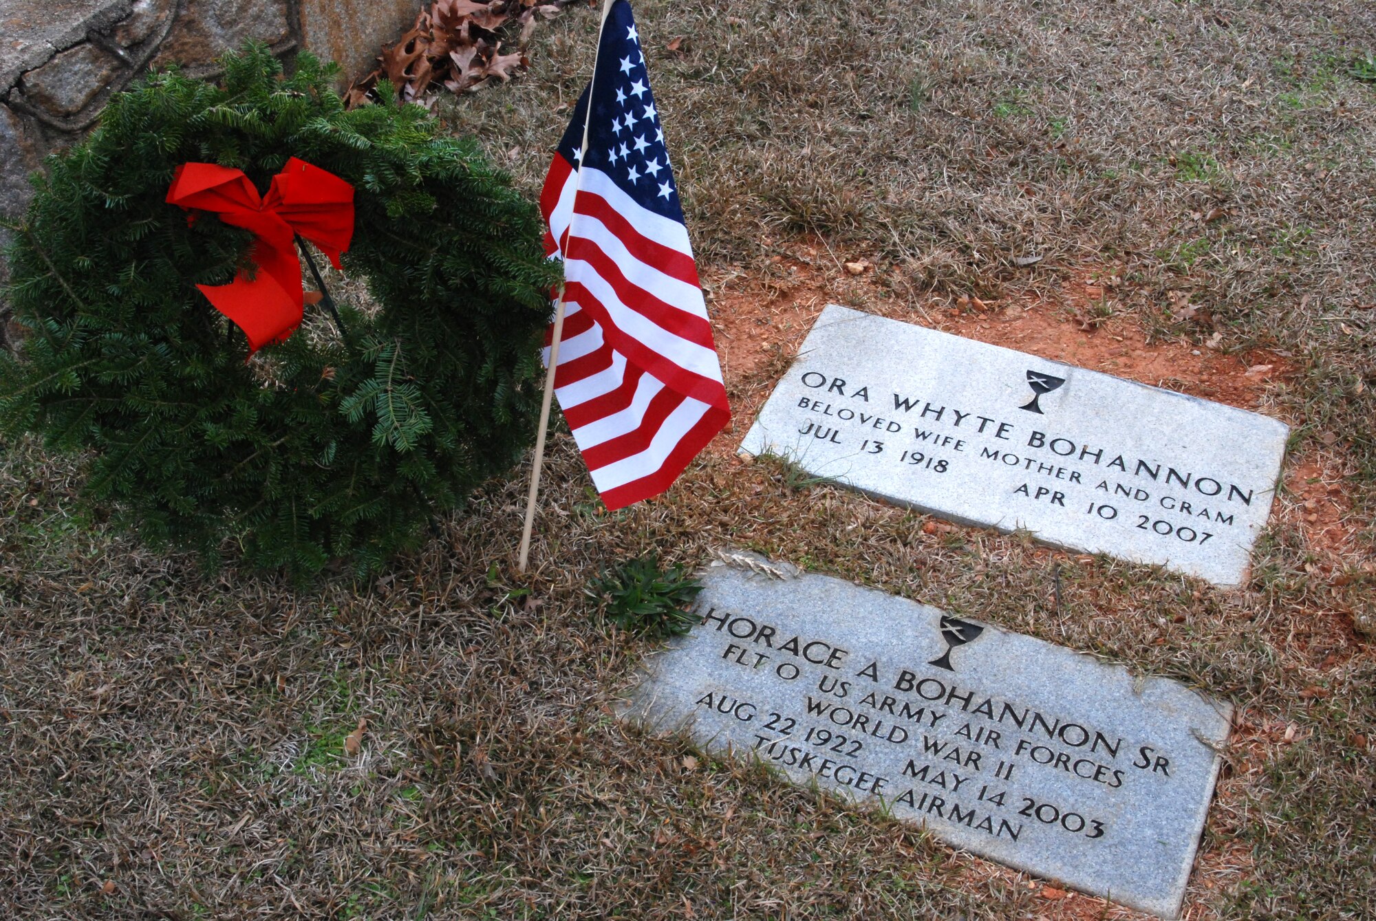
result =
[[[219,214],[226,224],[253,231],[250,279],[242,269],[228,285],[197,285],[220,313],[249,338],[249,355],[281,342],[301,324],[305,293],[293,242],[300,234],[340,268],[340,253],[354,236],[354,187],[293,157],[272,177],[266,197],[242,170],[215,164],[182,164],[168,188],[169,205]]]

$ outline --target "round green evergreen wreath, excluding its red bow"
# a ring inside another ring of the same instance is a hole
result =
[[[85,495],[154,546],[215,565],[230,539],[297,577],[332,559],[366,573],[534,437],[555,280],[538,213],[387,87],[345,111],[308,54],[292,76],[263,45],[223,63],[223,87],[150,76],[48,159],[11,228],[26,334],[0,355],[0,430],[85,452]],[[228,283],[253,234],[165,198],[180,164],[242,169],[261,192],[292,157],[354,186],[343,264],[376,305],[341,302],[340,326],[307,307],[248,360],[195,285]]]

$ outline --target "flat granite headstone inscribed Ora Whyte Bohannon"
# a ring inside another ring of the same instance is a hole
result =
[[[740,445],[955,521],[1245,580],[1289,429],[830,305]]]

